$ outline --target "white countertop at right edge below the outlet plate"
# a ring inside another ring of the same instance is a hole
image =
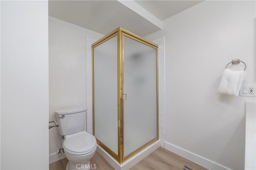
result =
[[[245,170],[256,170],[256,102],[246,102]]]

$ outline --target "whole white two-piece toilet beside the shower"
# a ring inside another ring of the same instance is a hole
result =
[[[64,136],[62,143],[68,164],[66,170],[90,170],[90,159],[94,156],[96,138],[82,131],[86,118],[86,107],[73,107],[56,110],[59,134]]]

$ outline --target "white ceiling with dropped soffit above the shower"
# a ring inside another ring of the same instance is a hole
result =
[[[162,28],[162,20],[202,1],[49,0],[49,16],[108,34],[119,26],[139,36]]]

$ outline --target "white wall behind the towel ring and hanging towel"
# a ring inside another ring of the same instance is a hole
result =
[[[209,160],[206,168],[244,169],[245,101],[255,98],[220,95],[217,88],[232,59],[247,64],[243,84],[255,84],[255,1],[202,2],[164,20],[163,29],[146,38],[162,36],[166,144]]]

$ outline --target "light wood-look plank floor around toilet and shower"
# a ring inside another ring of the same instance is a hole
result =
[[[49,170],[66,170],[67,163],[67,158],[58,160],[49,165]],[[96,170],[114,170],[97,152],[90,160],[90,163],[96,164]],[[161,147],[133,166],[130,170],[182,170],[185,165],[192,170],[207,170],[206,168]]]

